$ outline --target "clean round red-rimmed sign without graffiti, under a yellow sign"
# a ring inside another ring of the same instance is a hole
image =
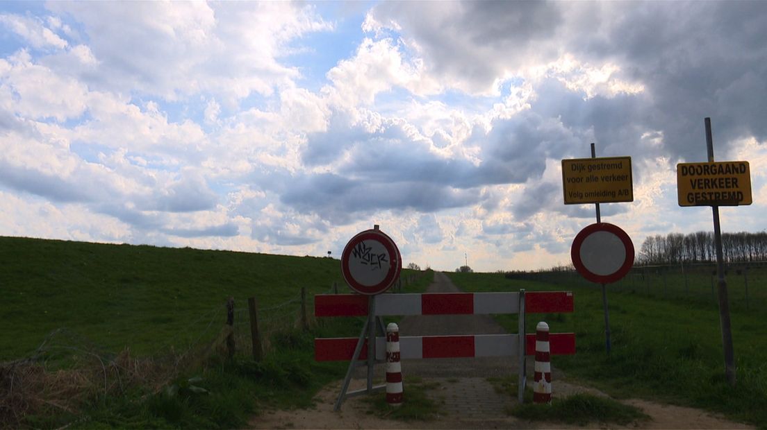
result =
[[[623,278],[634,265],[634,243],[621,227],[594,223],[575,236],[570,256],[585,279],[609,284]]]

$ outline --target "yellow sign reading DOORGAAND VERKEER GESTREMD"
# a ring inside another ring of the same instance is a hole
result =
[[[676,165],[680,206],[739,206],[751,204],[748,161],[680,163]]]

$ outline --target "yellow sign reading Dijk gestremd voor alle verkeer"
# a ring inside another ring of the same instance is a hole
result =
[[[565,204],[634,201],[631,158],[562,160]]]

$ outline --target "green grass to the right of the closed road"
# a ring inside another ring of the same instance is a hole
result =
[[[612,396],[640,396],[719,412],[731,419],[767,422],[767,318],[765,310],[732,311],[736,354],[735,387],[724,379],[719,313],[710,305],[647,297],[608,286],[612,350],[604,345],[604,313],[598,286],[551,285],[505,279],[502,274],[450,274],[465,291],[564,290],[574,292],[573,314],[528,315],[535,327],[573,331],[577,353],[554,356],[569,378],[588,381]],[[760,288],[756,286],[754,288]],[[763,286],[761,287],[763,288]],[[516,318],[498,318],[510,333]],[[556,383],[556,381],[554,382]]]

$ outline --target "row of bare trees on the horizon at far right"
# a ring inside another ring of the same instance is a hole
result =
[[[728,263],[765,261],[767,232],[722,233],[722,251],[724,261]],[[716,262],[713,232],[647,236],[637,256],[640,265],[706,262]]]

